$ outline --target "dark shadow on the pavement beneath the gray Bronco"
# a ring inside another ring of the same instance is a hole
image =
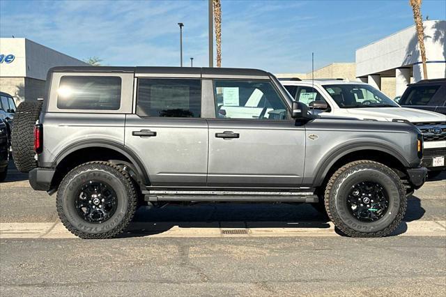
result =
[[[408,197],[408,207],[403,222],[390,234],[406,233],[406,222],[420,220],[426,211],[420,198]],[[192,206],[141,207],[133,222],[121,234],[139,237],[162,234],[173,227],[181,228],[330,228],[329,220],[309,204],[197,204]],[[346,236],[335,229],[340,236]]]

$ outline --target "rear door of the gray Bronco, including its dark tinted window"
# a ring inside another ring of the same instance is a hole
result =
[[[125,146],[136,153],[151,185],[206,185],[208,124],[201,119],[201,79],[137,78]]]

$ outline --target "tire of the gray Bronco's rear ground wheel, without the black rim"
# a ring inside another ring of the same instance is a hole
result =
[[[107,182],[116,192],[116,212],[105,222],[91,223],[81,218],[74,199],[79,187],[94,178]],[[56,207],[63,225],[80,238],[112,238],[121,234],[137,210],[138,196],[129,174],[109,162],[95,161],[79,165],[63,178],[56,197]]]

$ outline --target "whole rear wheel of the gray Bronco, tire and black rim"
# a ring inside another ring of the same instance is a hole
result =
[[[72,169],[56,198],[59,218],[80,238],[120,234],[132,220],[137,203],[129,174],[109,162],[89,162]]]

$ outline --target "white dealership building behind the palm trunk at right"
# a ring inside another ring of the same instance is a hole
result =
[[[424,21],[423,26],[428,78],[445,78],[446,21]],[[415,26],[356,50],[356,77],[378,89],[383,78],[394,78],[395,96],[410,82],[424,79]]]

